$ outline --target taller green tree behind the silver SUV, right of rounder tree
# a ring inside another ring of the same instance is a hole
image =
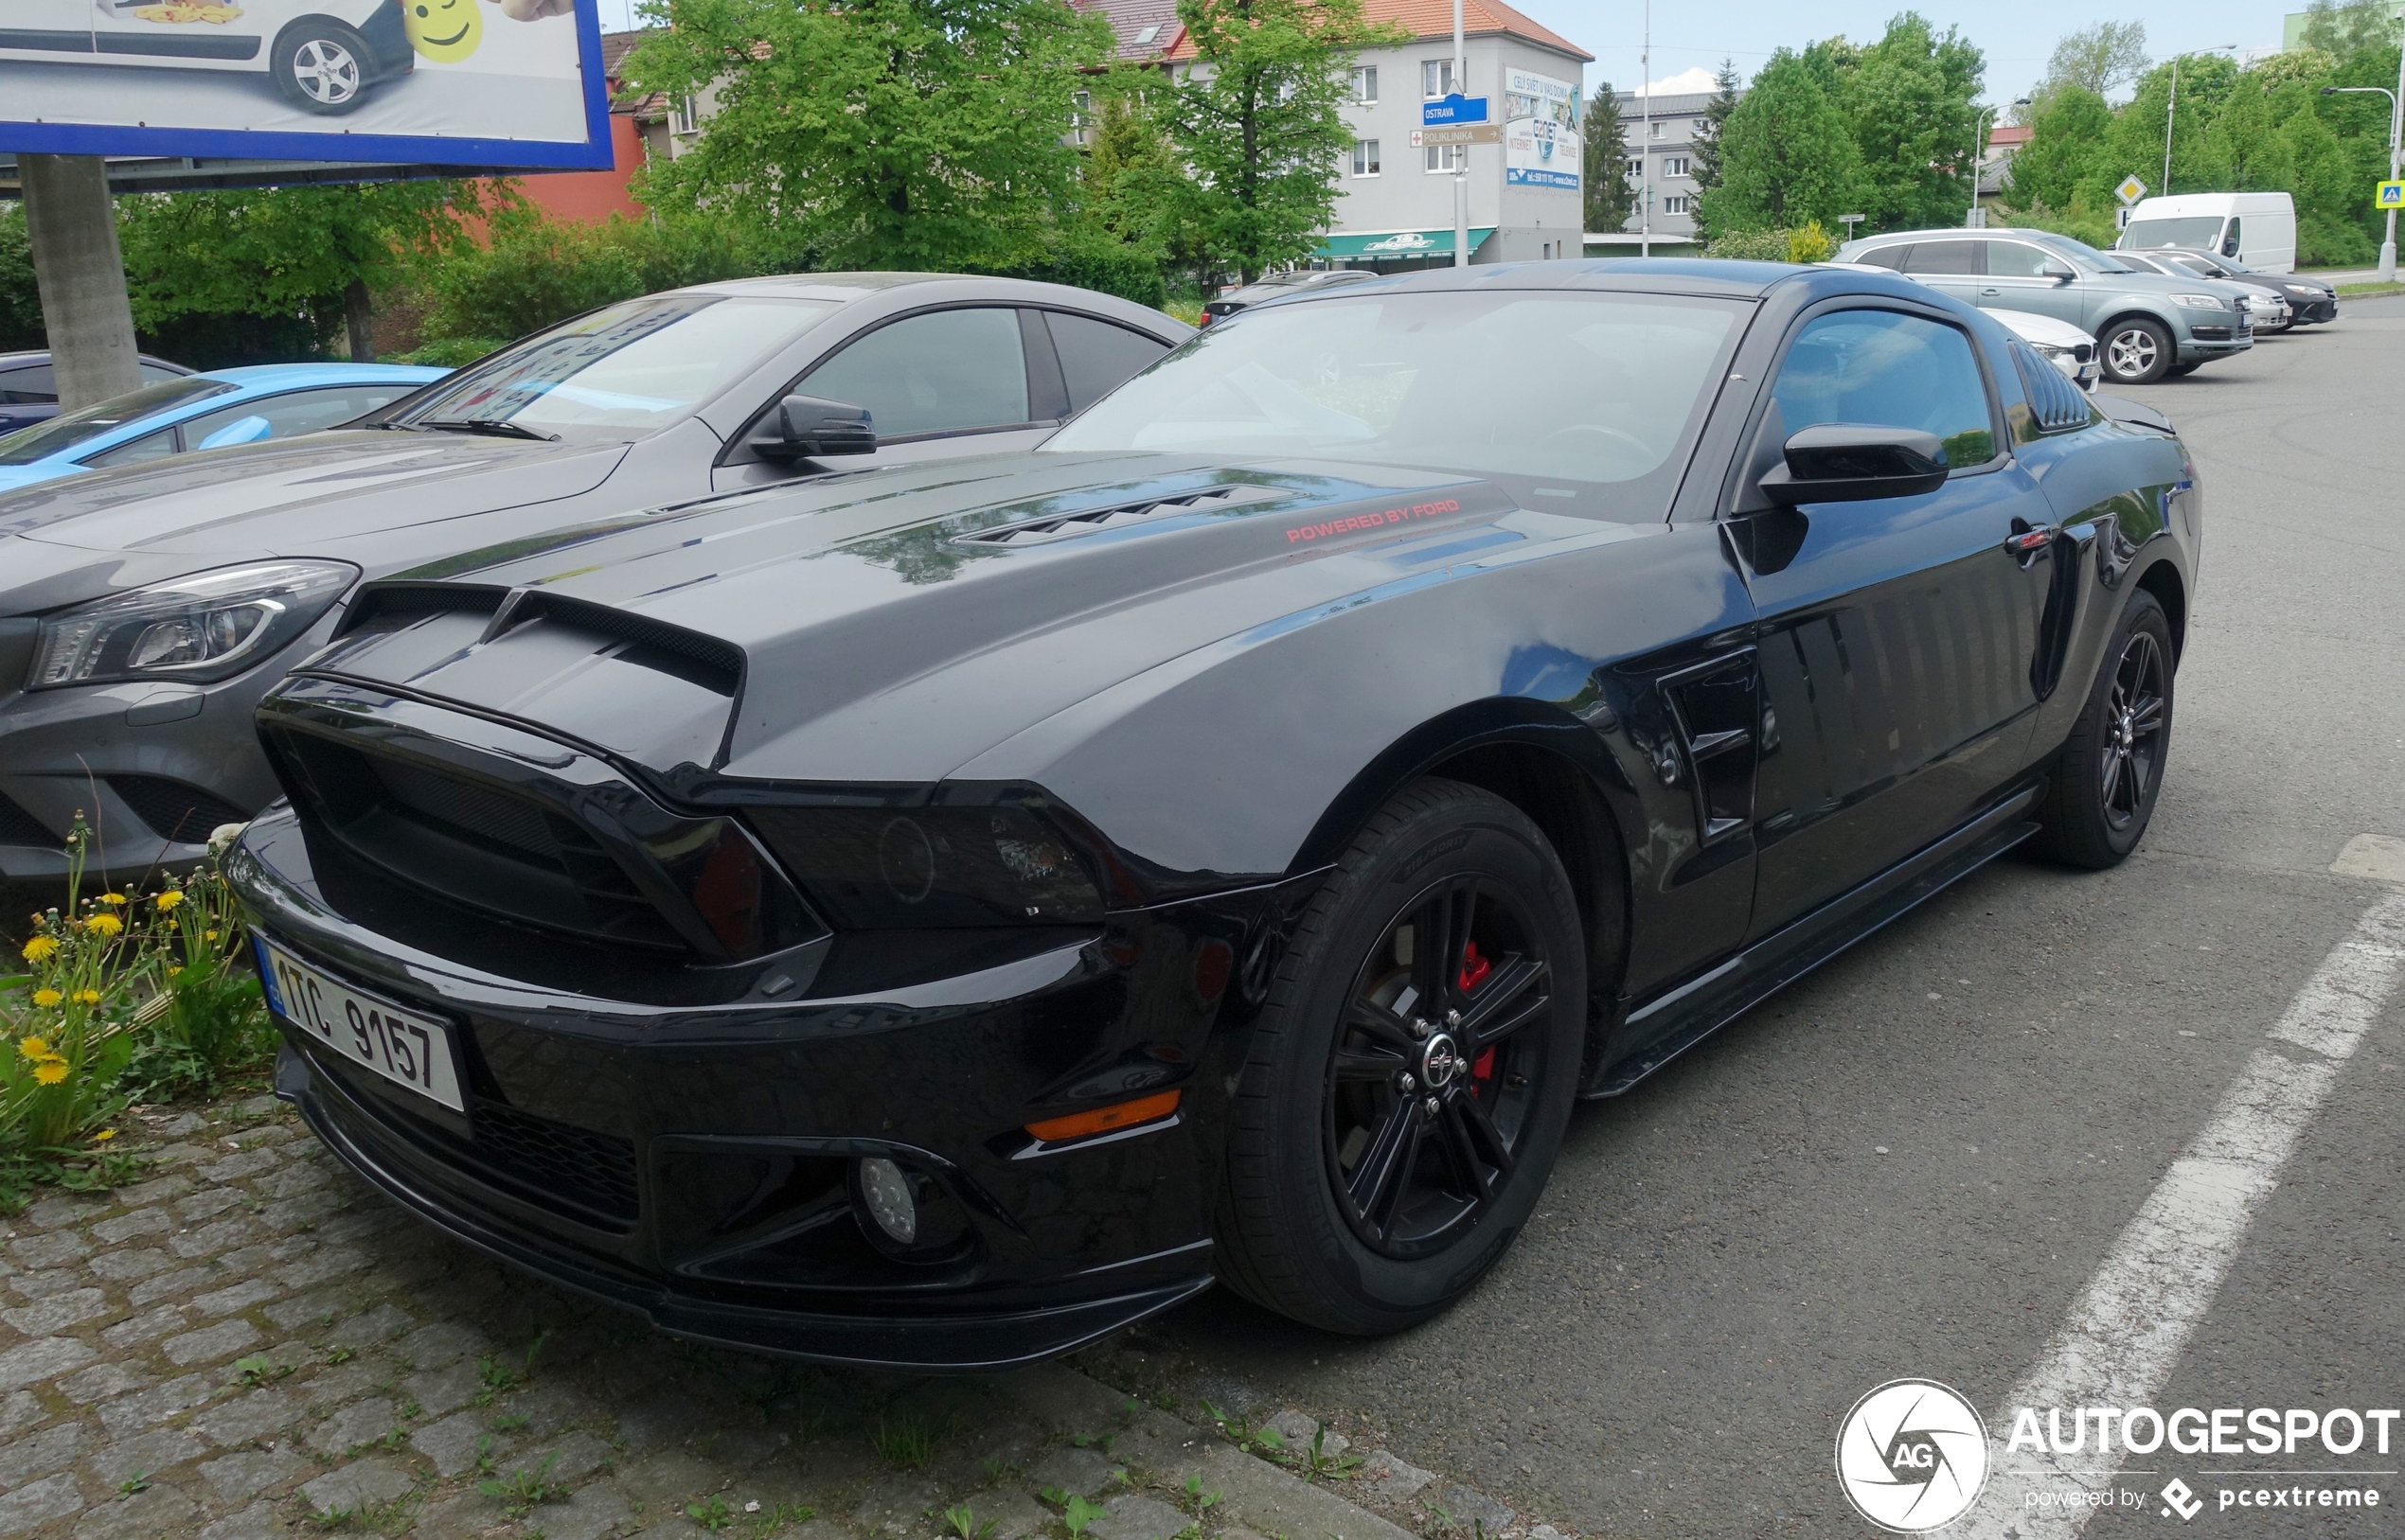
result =
[[[1984,74],[1984,55],[1958,29],[1938,36],[1910,10],[1840,72],[1873,231],[1962,221]]]

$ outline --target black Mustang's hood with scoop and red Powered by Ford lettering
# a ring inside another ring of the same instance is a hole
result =
[[[924,783],[1145,670],[1438,581],[1472,550],[1643,529],[1436,471],[979,456],[452,557],[363,589],[356,629],[303,668],[659,774]]]

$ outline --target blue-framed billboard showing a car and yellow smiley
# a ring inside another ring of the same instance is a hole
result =
[[[596,0],[0,0],[0,149],[606,168]]]

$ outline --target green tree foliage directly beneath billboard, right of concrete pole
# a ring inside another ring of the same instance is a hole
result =
[[[469,245],[469,221],[515,195],[471,180],[337,183],[118,199],[135,327],[197,317],[301,317],[375,358],[380,288],[411,264]]]

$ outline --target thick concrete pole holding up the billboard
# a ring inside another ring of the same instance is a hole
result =
[[[135,310],[125,298],[118,211],[101,156],[17,156],[34,245],[41,324],[51,334],[58,408],[139,389]]]

